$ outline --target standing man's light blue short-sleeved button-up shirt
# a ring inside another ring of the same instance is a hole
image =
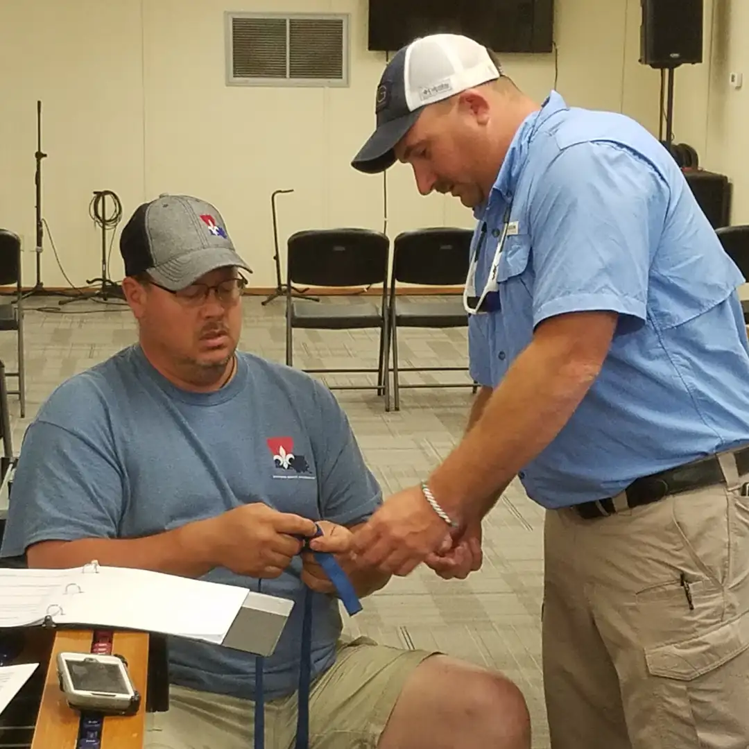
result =
[[[744,278],[657,140],[553,91],[476,210],[476,294],[508,210],[498,290],[489,312],[469,317],[479,383],[497,386],[545,319],[619,313],[597,380],[521,473],[533,500],[555,508],[611,497],[639,476],[749,443]]]

